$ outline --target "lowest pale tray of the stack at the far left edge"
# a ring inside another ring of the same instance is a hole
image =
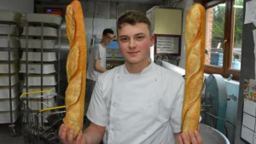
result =
[[[15,122],[17,118],[19,118],[19,116],[20,116],[19,107],[16,107],[14,111],[12,111],[12,118],[13,118],[12,122]],[[0,124],[7,124],[10,122],[11,122],[10,112],[9,111],[0,112]]]

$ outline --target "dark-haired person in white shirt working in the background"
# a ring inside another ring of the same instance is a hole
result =
[[[107,28],[102,32],[102,41],[93,47],[90,51],[90,59],[88,61],[87,76],[86,76],[86,90],[85,90],[85,105],[84,116],[89,107],[90,98],[96,79],[102,72],[106,72],[106,46],[113,41],[113,30]],[[90,120],[85,118],[85,128],[90,124]]]

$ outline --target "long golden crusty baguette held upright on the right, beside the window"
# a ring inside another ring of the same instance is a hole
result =
[[[201,4],[193,5],[186,17],[186,72],[183,99],[182,131],[196,130],[201,113],[201,90],[204,79],[206,12]],[[189,138],[189,136],[188,136]]]

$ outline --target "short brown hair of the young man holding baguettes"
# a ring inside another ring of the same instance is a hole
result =
[[[150,31],[151,23],[148,20],[148,17],[140,11],[129,10],[129,11],[125,12],[125,14],[122,14],[116,23],[117,33],[118,33],[119,29],[122,28],[121,25],[125,24],[125,23],[128,23],[133,26],[136,25],[137,23],[147,24],[149,34],[151,35],[151,31]]]

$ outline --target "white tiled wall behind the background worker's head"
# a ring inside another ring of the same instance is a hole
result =
[[[92,24],[92,21],[93,21],[93,24]],[[111,28],[114,34],[116,34],[115,19],[94,19],[93,20],[92,18],[84,18],[84,25],[85,25],[87,46],[90,46],[90,39],[93,35],[96,35],[97,40],[101,40],[102,32],[105,28]]]

